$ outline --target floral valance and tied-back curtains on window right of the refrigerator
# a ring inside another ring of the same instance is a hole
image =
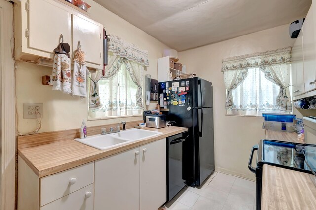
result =
[[[232,91],[236,89],[248,76],[248,69],[260,68],[265,78],[280,87],[277,96],[277,107],[280,111],[291,111],[292,106],[288,87],[290,84],[291,47],[231,57],[222,60],[222,72],[227,89],[226,109],[238,109],[234,104]],[[242,106],[242,105],[241,105]],[[243,108],[247,104],[243,105]],[[261,106],[261,105],[256,105]],[[239,107],[240,108],[240,107]]]

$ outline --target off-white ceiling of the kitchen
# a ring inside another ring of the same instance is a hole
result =
[[[94,0],[178,51],[290,24],[312,0]]]

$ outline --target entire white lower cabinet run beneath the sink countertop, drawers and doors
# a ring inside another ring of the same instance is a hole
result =
[[[18,210],[157,210],[166,139],[39,178],[18,156]]]

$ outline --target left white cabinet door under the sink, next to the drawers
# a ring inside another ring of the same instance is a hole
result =
[[[95,161],[94,209],[139,210],[139,147]]]

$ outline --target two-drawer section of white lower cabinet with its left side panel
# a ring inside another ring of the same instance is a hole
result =
[[[93,210],[94,163],[39,178],[18,156],[18,210]]]

